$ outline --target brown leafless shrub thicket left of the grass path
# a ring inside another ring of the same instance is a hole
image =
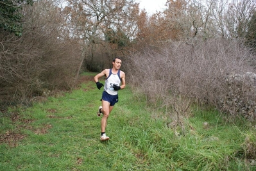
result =
[[[0,31],[1,104],[28,103],[75,83],[80,49],[64,37],[60,10],[50,1],[39,2],[24,8],[24,16],[22,37]]]

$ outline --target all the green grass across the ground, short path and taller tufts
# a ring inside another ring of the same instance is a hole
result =
[[[246,137],[255,140],[255,129],[245,121],[229,123],[217,111],[194,110],[176,136],[168,118],[152,117],[160,114],[134,98],[129,86],[119,92],[108,118],[110,140],[100,142],[100,98],[91,81],[31,108],[10,109],[19,112],[15,122],[1,114],[1,136],[24,138],[0,144],[0,170],[256,169],[244,159]],[[207,129],[203,122],[209,123]]]

